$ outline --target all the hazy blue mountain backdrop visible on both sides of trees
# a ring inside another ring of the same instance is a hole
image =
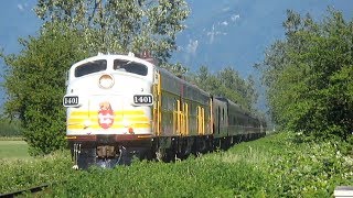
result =
[[[35,36],[42,21],[33,11],[36,0],[0,0],[0,50],[18,54],[19,37]],[[186,29],[176,37],[178,51],[173,63],[181,63],[195,72],[201,65],[213,73],[233,67],[242,77],[256,76],[253,65],[264,58],[264,53],[276,40],[284,38],[282,22],[286,10],[310,13],[320,21],[328,7],[353,18],[351,0],[186,0],[191,13]],[[0,76],[3,75],[0,59]],[[3,78],[0,77],[0,82]],[[0,112],[6,99],[0,88]]]

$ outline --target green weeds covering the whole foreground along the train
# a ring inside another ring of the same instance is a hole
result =
[[[54,197],[332,197],[336,186],[353,185],[353,158],[344,150],[342,142],[299,143],[281,133],[176,163],[78,172],[64,152],[23,166],[0,164],[1,173],[14,173],[0,176],[0,193],[52,182]]]

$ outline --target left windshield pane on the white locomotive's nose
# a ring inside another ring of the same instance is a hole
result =
[[[85,63],[75,68],[75,77],[85,76],[93,73],[98,73],[100,70],[107,69],[107,61],[98,59],[89,63]]]

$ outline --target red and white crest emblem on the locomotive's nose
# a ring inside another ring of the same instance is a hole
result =
[[[108,101],[99,103],[98,123],[103,129],[108,129],[114,123],[114,111]]]

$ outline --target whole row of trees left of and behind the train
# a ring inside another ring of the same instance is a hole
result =
[[[181,64],[169,64],[176,34],[185,28],[190,12],[184,0],[41,0],[34,10],[44,22],[38,36],[21,38],[20,54],[0,53],[8,66],[4,111],[20,119],[32,155],[66,146],[62,97],[72,64],[97,52],[149,50],[160,66],[178,75],[188,70]],[[190,76],[201,88],[252,109],[256,98],[253,81],[240,79],[234,69],[211,74],[202,67]]]

